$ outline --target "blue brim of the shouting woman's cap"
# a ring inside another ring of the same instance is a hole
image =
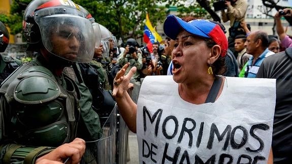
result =
[[[174,15],[169,15],[164,21],[164,25],[163,25],[164,33],[166,36],[168,36],[172,40],[176,40],[177,35],[180,32],[181,28],[186,30],[192,35],[196,35],[198,37],[203,37],[203,38],[210,38],[198,27],[194,25],[190,25],[186,21]]]

